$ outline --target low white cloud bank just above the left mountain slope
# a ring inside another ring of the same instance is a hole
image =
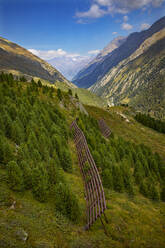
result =
[[[49,60],[53,58],[60,58],[60,57],[67,57],[67,58],[76,58],[80,56],[77,53],[68,53],[64,51],[63,49],[57,49],[57,50],[36,50],[36,49],[28,49],[31,53],[34,55],[40,57],[41,59]]]

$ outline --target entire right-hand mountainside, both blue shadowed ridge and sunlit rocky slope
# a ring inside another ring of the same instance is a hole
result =
[[[165,116],[165,17],[148,30],[115,39],[74,79],[111,105],[129,104]]]

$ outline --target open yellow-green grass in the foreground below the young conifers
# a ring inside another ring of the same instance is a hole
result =
[[[80,175],[68,175],[68,180],[84,203]],[[0,188],[1,195],[8,191],[3,184]],[[164,203],[154,203],[141,196],[131,199],[125,194],[109,191],[106,191],[106,198],[109,237],[104,234],[99,220],[86,232],[83,230],[85,216],[79,225],[73,225],[55,213],[51,205],[34,200],[30,193],[20,195],[9,191],[8,202],[11,204],[12,199],[17,204],[15,210],[1,207],[0,247],[164,247]],[[82,210],[85,212],[84,206]],[[19,229],[28,233],[26,242],[16,239]]]

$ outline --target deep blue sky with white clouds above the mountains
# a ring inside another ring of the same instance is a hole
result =
[[[81,58],[164,15],[165,0],[0,0],[0,36],[45,60]]]

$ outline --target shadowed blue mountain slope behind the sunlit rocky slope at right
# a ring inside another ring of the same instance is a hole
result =
[[[109,53],[100,63],[96,64],[94,68],[92,65],[85,68],[73,82],[79,87],[90,87],[101,80],[110,69],[133,54],[146,39],[164,27],[165,17],[155,22],[148,30],[130,34],[123,44]]]

